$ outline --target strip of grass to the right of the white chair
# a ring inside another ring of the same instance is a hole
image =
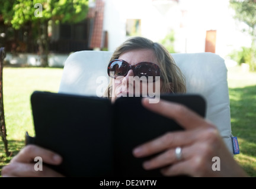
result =
[[[229,68],[232,133],[238,137],[240,154],[235,159],[256,177],[256,73]]]

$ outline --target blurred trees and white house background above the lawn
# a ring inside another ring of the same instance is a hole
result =
[[[140,35],[171,53],[212,52],[255,70],[255,58],[248,61],[255,7],[254,0],[1,0],[0,47],[9,64],[63,66],[73,51],[114,51]]]

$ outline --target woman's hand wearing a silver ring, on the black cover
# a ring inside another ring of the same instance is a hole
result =
[[[143,106],[155,113],[174,119],[184,131],[169,132],[159,138],[134,149],[135,157],[146,157],[161,152],[143,163],[146,170],[162,168],[165,176],[189,175],[192,177],[247,177],[248,175],[233,159],[217,128],[204,118],[183,105],[160,100],[149,103],[142,100]],[[181,159],[175,149],[181,147]],[[220,170],[213,164],[219,158]]]

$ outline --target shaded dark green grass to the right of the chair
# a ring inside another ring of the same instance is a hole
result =
[[[232,133],[241,139],[240,152],[256,157],[256,86],[229,89]],[[256,176],[256,162],[243,166]]]

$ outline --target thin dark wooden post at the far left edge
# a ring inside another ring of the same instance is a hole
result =
[[[4,47],[0,48],[0,135],[2,141],[4,142],[5,154],[7,157],[11,154],[8,151],[8,141],[7,141],[7,130],[5,127],[5,117],[4,117],[4,99],[3,99],[3,83],[2,83],[2,71],[4,66],[5,51]]]

